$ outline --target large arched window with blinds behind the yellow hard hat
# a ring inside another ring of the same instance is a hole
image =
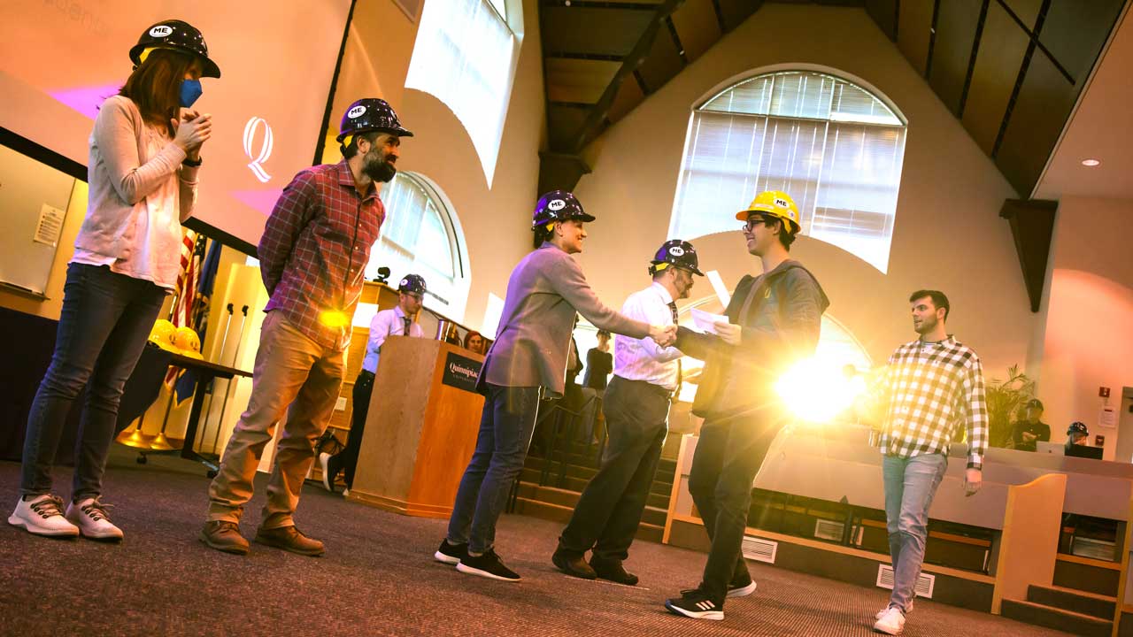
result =
[[[670,237],[735,230],[732,212],[784,190],[802,233],[885,272],[905,121],[869,91],[816,71],[744,79],[692,111]]]

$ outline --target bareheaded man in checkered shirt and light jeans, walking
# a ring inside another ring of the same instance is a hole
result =
[[[884,455],[885,517],[893,558],[893,594],[877,613],[878,631],[897,635],[912,610],[913,586],[925,561],[928,509],[948,466],[948,447],[961,427],[968,434],[968,495],[980,487],[988,447],[983,371],[976,353],[948,334],[948,297],[917,290],[913,330],[920,338],[889,357],[881,379],[886,394],[884,428],[877,444]]]

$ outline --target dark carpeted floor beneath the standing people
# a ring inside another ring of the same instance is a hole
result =
[[[871,635],[884,591],[752,564],[755,595],[730,601],[724,621],[667,613],[666,596],[699,580],[705,555],[638,543],[627,562],[637,587],[566,577],[551,564],[560,526],[504,516],[497,551],[518,584],[457,572],[433,561],[445,521],[408,518],[344,501],[309,485],[299,528],[326,542],[323,558],[253,544],[247,557],[197,538],[208,481],[197,465],[117,448],[105,479],[118,545],[46,540],[0,525],[0,635]],[[70,473],[59,468],[65,499]],[[19,466],[0,462],[3,507]],[[252,537],[263,506],[245,516]],[[5,519],[10,510],[5,508]],[[919,636],[1055,636],[986,613],[918,601],[905,630]]]

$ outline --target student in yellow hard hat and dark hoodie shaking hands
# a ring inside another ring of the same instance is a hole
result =
[[[705,418],[692,458],[689,492],[712,540],[704,579],[665,602],[675,614],[724,619],[724,598],[750,595],[756,583],[740,546],[751,504],[751,483],[785,413],[775,382],[818,345],[829,300],[801,263],[790,258],[799,209],[786,193],[760,193],[735,218],[744,222],[748,252],[763,274],[735,287],[718,336],[685,328],[676,347],[705,360],[693,414]]]

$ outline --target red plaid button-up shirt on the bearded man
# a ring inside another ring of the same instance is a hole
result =
[[[344,349],[384,220],[376,190],[358,195],[346,161],[296,175],[259,238],[261,277],[272,297],[264,312],[280,311],[318,345]],[[346,324],[333,324],[335,316]]]

